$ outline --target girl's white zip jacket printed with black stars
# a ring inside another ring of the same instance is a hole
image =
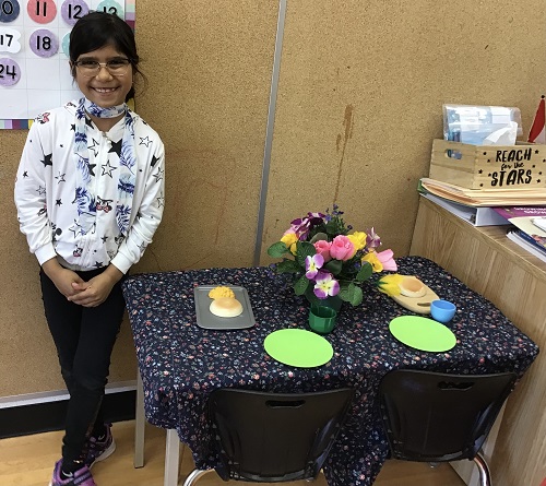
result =
[[[31,127],[15,180],[21,230],[39,264],[51,258],[72,270],[114,264],[122,273],[136,263],[159,225],[165,194],[165,150],[159,135],[139,115],[134,120],[136,180],[129,230],[116,222],[119,147],[123,120],[108,132],[88,120],[87,146],[97,200],[93,230],[79,232],[75,204],[74,127],[78,102],[38,116]]]

